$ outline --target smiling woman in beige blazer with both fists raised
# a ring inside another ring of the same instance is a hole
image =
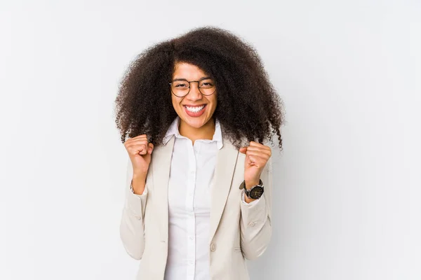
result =
[[[248,279],[245,259],[272,235],[262,143],[276,133],[282,149],[283,123],[255,50],[215,27],[153,45],[128,68],[116,111],[130,158],[120,233],[138,279]]]

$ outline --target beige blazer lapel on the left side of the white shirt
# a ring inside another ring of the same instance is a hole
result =
[[[154,179],[154,200],[160,204],[157,221],[159,222],[159,232],[161,240],[168,242],[168,181],[170,179],[171,157],[173,155],[175,137],[153,151],[151,165]],[[159,215],[159,216],[158,216]]]

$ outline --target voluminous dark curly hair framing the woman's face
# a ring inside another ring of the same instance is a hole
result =
[[[152,144],[162,144],[177,117],[168,85],[177,62],[194,64],[213,77],[218,92],[213,117],[236,148],[268,139],[273,145],[276,134],[282,150],[283,102],[260,56],[239,36],[218,27],[192,29],[152,45],[131,62],[115,100],[122,143],[126,137],[147,134]]]

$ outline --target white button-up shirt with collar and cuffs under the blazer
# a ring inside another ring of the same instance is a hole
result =
[[[222,132],[215,120],[213,139],[192,141],[180,135],[180,117],[163,138],[175,135],[168,181],[168,258],[165,280],[208,280],[210,193]],[[153,152],[152,152],[153,153]],[[143,195],[147,194],[145,189]],[[245,203],[244,194],[239,199]],[[259,200],[251,202],[258,203]]]

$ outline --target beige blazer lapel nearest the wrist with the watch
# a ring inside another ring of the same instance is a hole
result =
[[[215,183],[211,190],[209,243],[215,235],[227,202],[238,154],[239,151],[228,139],[224,138],[223,146],[218,151],[214,175]]]

